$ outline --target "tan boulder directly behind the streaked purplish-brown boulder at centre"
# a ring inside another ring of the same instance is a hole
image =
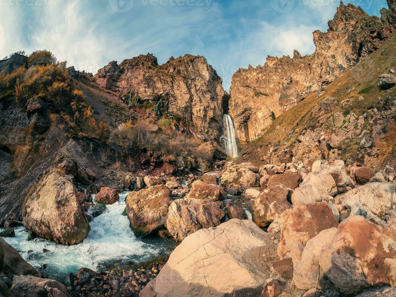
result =
[[[194,181],[191,185],[190,192],[185,198],[191,199],[202,199],[205,201],[219,201],[223,200],[227,194],[223,187],[219,185],[211,185],[204,183],[203,181]]]

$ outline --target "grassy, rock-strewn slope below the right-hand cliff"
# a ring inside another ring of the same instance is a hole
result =
[[[278,116],[249,143],[240,162],[257,164],[305,159],[345,160],[381,169],[395,160],[395,88],[379,76],[394,76],[396,34],[375,53],[324,88]]]

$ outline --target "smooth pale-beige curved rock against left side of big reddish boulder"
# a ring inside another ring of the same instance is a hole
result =
[[[294,259],[296,263],[293,265],[293,281],[296,287],[310,289],[322,283],[324,274],[318,275],[320,273],[319,256],[322,253],[322,247],[329,245],[336,233],[337,228],[333,227],[319,232],[314,238],[308,240],[301,259]]]

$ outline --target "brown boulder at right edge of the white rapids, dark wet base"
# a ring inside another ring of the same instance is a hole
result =
[[[145,236],[164,226],[172,191],[165,185],[156,185],[131,192],[125,200],[128,219],[136,236]]]

